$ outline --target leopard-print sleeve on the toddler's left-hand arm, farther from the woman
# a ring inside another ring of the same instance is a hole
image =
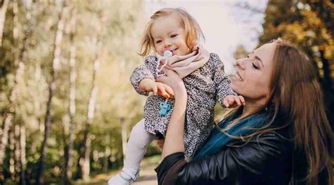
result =
[[[148,96],[149,92],[141,89],[139,87],[139,83],[145,78],[149,78],[155,81],[156,66],[156,58],[154,56],[148,56],[145,58],[144,65],[138,66],[133,70],[130,76],[130,82],[138,94]]]

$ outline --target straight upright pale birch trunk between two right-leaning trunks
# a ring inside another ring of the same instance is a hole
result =
[[[69,60],[69,144],[67,147],[67,156],[65,159],[64,170],[64,184],[71,184],[72,179],[72,166],[73,166],[73,142],[74,142],[74,116],[75,116],[75,46],[74,46],[74,33],[75,33],[75,15],[76,9],[72,10],[70,20],[69,40],[71,44],[70,48],[70,60]],[[65,144],[67,146],[67,144]]]

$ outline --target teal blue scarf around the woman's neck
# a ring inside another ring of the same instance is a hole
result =
[[[242,110],[237,111],[235,114],[228,116],[227,118],[220,121],[217,125],[219,128],[225,128],[230,122],[235,120],[241,115]],[[258,114],[254,114],[247,118],[242,119],[232,128],[226,131],[226,133],[233,136],[246,136],[253,133],[254,129],[249,128],[260,128],[264,124],[270,121],[270,111],[261,111]],[[226,144],[232,141],[231,137],[228,137],[225,133],[221,132],[217,128],[213,128],[207,141],[204,143],[202,148],[198,149],[193,160],[203,158],[205,156],[211,156],[218,153]]]

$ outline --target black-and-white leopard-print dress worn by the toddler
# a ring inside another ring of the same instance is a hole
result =
[[[130,81],[137,93],[148,96],[144,106],[145,129],[149,133],[165,137],[174,99],[168,99],[171,109],[167,114],[160,115],[159,104],[166,99],[160,95],[145,92],[139,87],[140,81],[144,78],[156,80],[157,65],[158,60],[155,56],[146,57],[145,64],[134,69]],[[224,73],[222,61],[214,53],[210,53],[209,60],[204,66],[184,77],[183,82],[188,93],[184,128],[185,155],[193,157],[213,128],[214,106],[217,100],[225,108],[224,97],[236,95],[236,93],[230,87],[230,80]]]

